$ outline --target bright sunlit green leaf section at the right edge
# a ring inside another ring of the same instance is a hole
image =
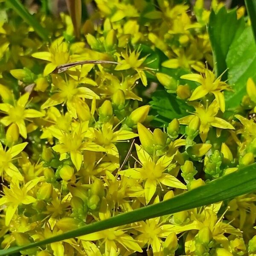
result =
[[[250,26],[230,45],[226,61],[228,81],[234,90],[225,93],[226,108],[235,108],[246,94],[248,78],[256,77],[256,44]]]

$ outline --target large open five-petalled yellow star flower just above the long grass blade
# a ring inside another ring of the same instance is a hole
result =
[[[177,178],[168,173],[165,173],[166,169],[172,163],[174,156],[168,157],[164,155],[163,157],[160,157],[157,161],[154,161],[151,156],[137,144],[136,151],[140,161],[139,163],[142,167],[135,167],[119,171],[118,174],[125,177],[131,177],[136,180],[144,181],[146,204],[149,203],[154,193],[156,192],[157,184],[162,183],[163,185],[169,187],[187,189],[186,186],[181,183]]]

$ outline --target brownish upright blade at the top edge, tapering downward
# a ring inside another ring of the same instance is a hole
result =
[[[67,9],[70,13],[76,38],[80,37],[82,3],[81,0],[66,0]]]

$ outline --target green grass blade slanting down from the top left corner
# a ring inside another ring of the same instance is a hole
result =
[[[22,5],[20,0],[6,0],[6,3],[9,4],[9,6],[17,12],[20,17],[23,18],[23,20],[28,23],[32,28],[35,30],[35,32],[44,40],[48,41],[48,32],[46,29],[44,29],[41,24],[38,22],[38,20],[31,15],[27,9]]]

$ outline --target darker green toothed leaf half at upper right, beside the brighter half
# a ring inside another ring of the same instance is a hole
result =
[[[212,55],[216,76],[220,76],[227,70],[226,57],[229,47],[236,35],[244,29],[244,20],[237,20],[236,10],[227,12],[222,7],[217,14],[211,12],[209,17],[208,33],[212,45]],[[223,74],[222,80],[227,80],[227,72]]]

